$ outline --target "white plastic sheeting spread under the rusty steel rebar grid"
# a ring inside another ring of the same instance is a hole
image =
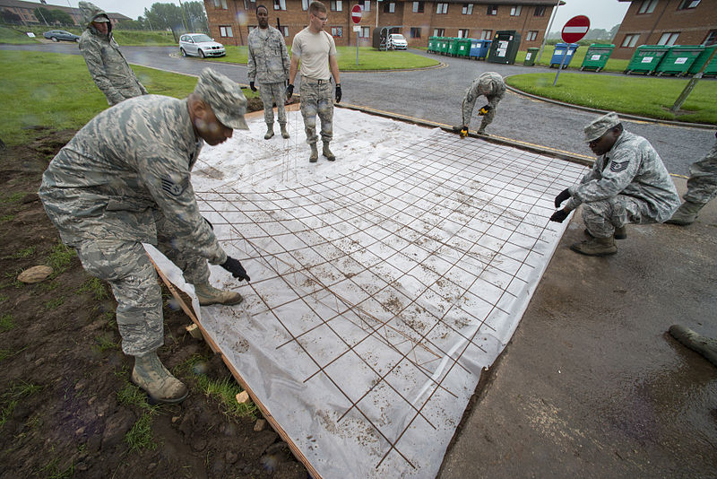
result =
[[[582,166],[336,109],[338,161],[262,119],[205,150],[203,214],[251,283],[202,324],[323,477],[433,477],[564,224]]]

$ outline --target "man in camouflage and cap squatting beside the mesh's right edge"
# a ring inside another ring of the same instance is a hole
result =
[[[570,248],[589,256],[613,255],[618,252],[614,240],[626,238],[626,224],[665,222],[678,208],[679,196],[652,144],[624,131],[616,113],[593,120],[584,131],[598,160],[580,185],[556,196],[556,208],[568,201],[550,221],[563,222],[582,204],[591,239]]]

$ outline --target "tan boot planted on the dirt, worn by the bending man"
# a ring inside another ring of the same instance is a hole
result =
[[[189,389],[164,367],[156,351],[134,356],[131,379],[158,403],[181,403],[189,395]]]

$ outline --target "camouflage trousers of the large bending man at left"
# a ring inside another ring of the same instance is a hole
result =
[[[161,213],[155,215],[158,249],[185,274],[188,283],[206,283],[206,259],[183,254],[172,247],[171,225]],[[92,276],[107,281],[117,300],[117,327],[122,351],[141,356],[164,344],[162,295],[157,272],[142,243],[122,240],[82,240],[74,243],[82,266]]]

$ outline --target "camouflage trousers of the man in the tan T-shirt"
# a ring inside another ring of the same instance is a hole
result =
[[[301,116],[304,117],[304,131],[307,132],[307,144],[316,143],[316,115],[321,119],[321,139],[331,142],[333,139],[333,86],[331,82],[316,83],[307,77],[301,77],[299,88],[301,96]]]

